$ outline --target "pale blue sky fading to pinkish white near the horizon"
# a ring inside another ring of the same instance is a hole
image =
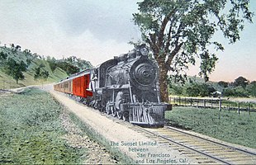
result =
[[[21,50],[57,59],[75,55],[96,66],[133,49],[140,39],[131,21],[135,0],[0,0],[1,45],[21,45]],[[256,1],[251,0],[256,13]],[[256,21],[254,16],[254,22]],[[218,52],[212,81],[234,81],[243,76],[256,80],[256,24],[247,24],[235,45]],[[216,36],[218,37],[218,36]],[[198,67],[188,72],[196,75]]]

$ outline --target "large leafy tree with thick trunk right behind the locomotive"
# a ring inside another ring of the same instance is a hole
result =
[[[163,101],[168,101],[169,71],[180,78],[181,71],[198,58],[199,74],[208,81],[217,60],[211,48],[224,50],[212,36],[221,31],[233,44],[239,40],[244,21],[252,22],[253,16],[249,0],[144,0],[138,5],[134,21],[159,64]]]

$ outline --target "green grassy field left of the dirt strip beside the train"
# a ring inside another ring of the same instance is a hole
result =
[[[84,150],[60,138],[62,107],[50,94],[28,89],[0,96],[0,105],[0,164],[80,163]]]

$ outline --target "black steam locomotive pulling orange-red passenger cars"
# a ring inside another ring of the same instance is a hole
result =
[[[172,109],[160,101],[159,67],[149,59],[146,45],[56,82],[54,89],[108,115],[145,127],[163,127],[164,111]]]

